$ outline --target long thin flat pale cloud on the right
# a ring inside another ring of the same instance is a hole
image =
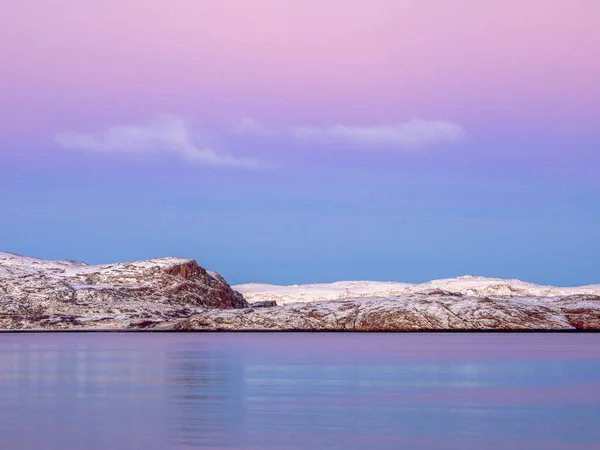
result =
[[[397,125],[290,126],[275,129],[265,127],[250,118],[244,118],[238,131],[260,136],[288,135],[300,141],[399,149],[416,149],[439,143],[459,142],[466,136],[465,131],[458,124],[422,119],[412,119]]]

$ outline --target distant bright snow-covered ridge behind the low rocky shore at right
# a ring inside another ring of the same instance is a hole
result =
[[[240,284],[234,289],[251,302],[274,300],[277,304],[340,300],[357,297],[397,297],[440,291],[447,294],[485,297],[565,297],[569,295],[600,295],[600,285],[555,287],[520,280],[486,278],[465,275],[421,284],[381,281],[338,281],[328,284],[277,286],[270,284]]]

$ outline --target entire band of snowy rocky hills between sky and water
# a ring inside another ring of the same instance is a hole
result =
[[[0,253],[0,330],[139,329],[600,330],[600,285],[463,276],[232,288],[190,259],[87,265]]]

